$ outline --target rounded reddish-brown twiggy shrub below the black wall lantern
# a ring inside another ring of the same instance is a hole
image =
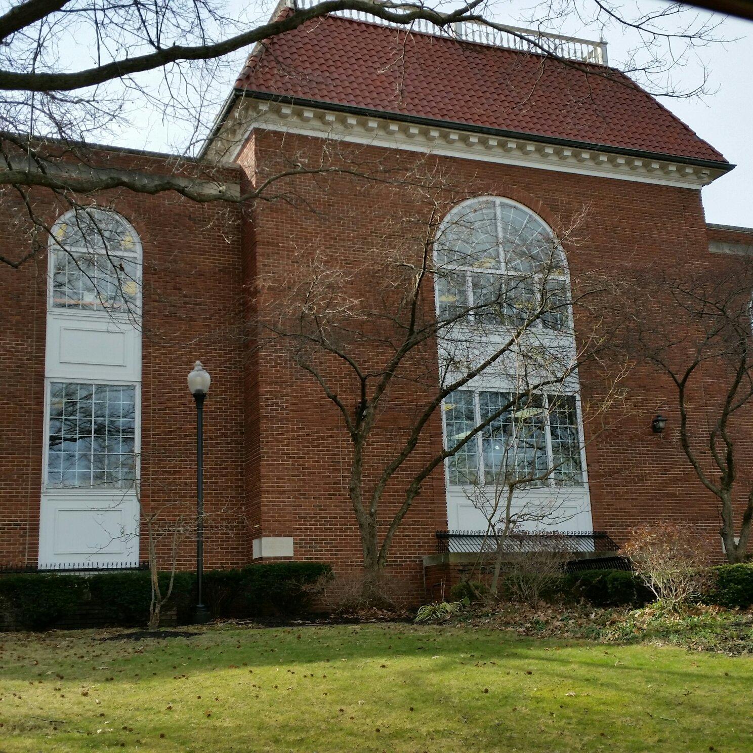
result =
[[[623,552],[633,560],[636,572],[669,608],[698,599],[706,590],[708,572],[704,559],[708,541],[691,526],[654,523],[634,532]]]

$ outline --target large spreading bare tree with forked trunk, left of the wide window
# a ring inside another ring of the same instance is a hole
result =
[[[348,495],[364,588],[374,594],[425,480],[453,458],[462,477],[462,451],[477,435],[521,401],[575,379],[605,346],[597,316],[581,320],[577,345],[571,334],[572,309],[585,313],[604,290],[602,279],[579,279],[571,297],[562,245],[529,220],[534,215],[511,209],[502,274],[497,230],[484,231],[495,222],[493,200],[458,204],[441,175],[414,176],[393,190],[405,209],[398,218],[375,213],[363,245],[349,252],[325,252],[318,242],[298,248],[292,271],[263,280],[258,301],[261,346],[288,352],[348,437]],[[575,235],[562,228],[562,243]],[[427,437],[436,436],[443,404],[447,412],[464,389],[489,379],[517,388],[480,421],[447,431],[441,451],[431,450]],[[389,421],[395,401],[399,435]],[[386,434],[389,451],[380,446]],[[399,489],[402,501],[386,511],[388,489]]]

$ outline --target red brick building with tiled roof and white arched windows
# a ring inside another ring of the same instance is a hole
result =
[[[137,492],[145,511],[162,511],[160,521],[193,505],[194,410],[185,376],[200,358],[212,374],[206,508],[221,520],[209,524],[209,566],[293,558],[358,567],[346,427],[285,347],[260,344],[259,322],[270,316],[260,290],[289,289],[297,268],[324,249],[323,258],[358,270],[349,279],[360,280],[359,300],[368,300],[380,288],[368,284],[364,262],[376,258],[374,249],[397,247],[413,218],[430,209],[395,175],[420,170],[443,181],[446,216],[462,207],[468,232],[486,233],[496,249],[483,265],[493,280],[514,276],[505,246],[511,228],[555,239],[566,257],[553,274],[558,290],[605,268],[614,279],[678,264],[710,270],[753,244],[751,231],[704,219],[701,187],[733,166],[609,69],[602,44],[542,38],[588,63],[572,66],[516,50],[503,35],[474,40],[478,29],[456,32],[325,17],[254,50],[197,165],[233,195],[293,173],[270,184],[264,200],[108,191],[81,197],[99,210],[76,214],[52,194],[35,194],[50,225],[49,253],[3,273],[0,562],[145,559]],[[175,165],[169,155],[105,147],[92,148],[90,161],[152,175]],[[5,197],[0,211],[0,242],[14,248],[26,239],[23,207]],[[575,218],[577,243],[565,237]],[[474,264],[453,270],[471,305],[481,296]],[[377,276],[378,261],[374,269]],[[447,300],[459,295],[441,285],[431,316],[444,316]],[[580,322],[575,316],[574,335],[543,326],[575,342]],[[432,341],[421,355],[441,364],[442,352]],[[423,376],[392,388],[370,440],[367,486],[404,442],[416,405],[435,392],[425,374],[439,373],[438,365],[407,368]],[[564,495],[559,520],[541,524],[601,530],[615,541],[652,520],[715,532],[715,500],[678,444],[672,387],[648,367],[631,371],[623,383],[630,410],[591,436],[581,416],[581,395],[595,389],[590,368],[560,386],[556,400],[540,398],[548,408],[535,428],[541,447],[535,442],[524,462],[549,471],[526,493],[541,501]],[[355,405],[352,382],[336,382]],[[386,486],[381,535],[411,474],[511,389],[485,377],[444,401]],[[651,429],[657,413],[669,417],[663,434]],[[499,470],[496,445],[484,444],[494,438],[479,434],[437,465],[401,523],[389,569],[416,592],[437,530],[483,529],[465,487],[469,474],[488,480]],[[182,566],[191,566],[190,538]],[[165,556],[168,544],[160,538]]]

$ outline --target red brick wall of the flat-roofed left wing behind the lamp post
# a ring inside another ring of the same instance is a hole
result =
[[[169,160],[117,152],[93,154],[108,166],[170,171]],[[235,181],[234,171],[224,175]],[[68,209],[51,194],[32,195],[50,224]],[[82,203],[90,203],[86,197]],[[99,194],[136,227],[144,248],[142,339],[142,500],[169,519],[195,509],[195,409],[186,376],[200,359],[212,373],[205,406],[207,566],[247,561],[243,510],[243,352],[240,215],[232,206],[175,194]],[[0,254],[31,248],[23,205],[11,191],[0,204]],[[41,236],[40,236],[41,237]],[[46,238],[41,243],[46,245]],[[44,252],[19,270],[0,267],[6,374],[0,431],[0,564],[37,561],[46,323]],[[166,544],[166,542],[165,542]],[[146,535],[142,529],[142,559]],[[181,565],[194,562],[194,541]],[[162,548],[166,556],[167,548]],[[164,560],[166,562],[166,560]]]

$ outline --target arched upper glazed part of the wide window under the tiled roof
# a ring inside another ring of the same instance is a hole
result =
[[[434,243],[437,314],[486,328],[569,329],[565,255],[529,209],[497,197],[456,206]]]

